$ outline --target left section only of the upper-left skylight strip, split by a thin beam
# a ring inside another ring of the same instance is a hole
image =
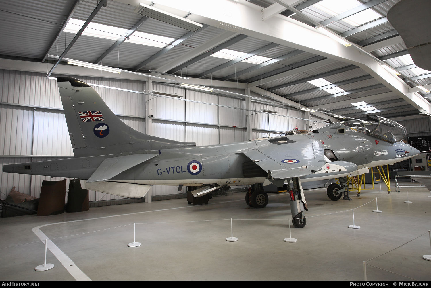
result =
[[[63,31],[76,34],[84,23],[85,21],[70,18]],[[119,37],[123,36],[126,32],[127,29],[90,22],[84,32],[82,32],[82,35],[118,40]]]

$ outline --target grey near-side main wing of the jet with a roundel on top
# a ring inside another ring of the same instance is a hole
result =
[[[276,141],[271,139],[268,144],[243,153],[265,172],[270,171],[275,179],[306,176],[325,165],[324,152],[319,141],[304,139],[297,142],[283,138],[274,139]]]

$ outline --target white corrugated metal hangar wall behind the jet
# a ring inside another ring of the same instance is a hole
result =
[[[55,75],[54,75],[55,76]],[[87,83],[143,91],[144,81],[106,79],[75,76]],[[176,141],[196,142],[198,146],[246,141],[245,101],[240,98],[197,92],[153,82],[153,90],[180,94],[184,99],[154,97],[149,101],[153,108],[153,135]],[[106,104],[128,126],[145,133],[144,95],[115,89],[94,89]],[[222,88],[244,93],[243,89]],[[1,102],[62,109],[55,80],[46,79],[41,73],[0,70]],[[222,107],[222,106],[227,107]],[[238,109],[239,108],[239,109]],[[275,110],[278,114],[252,113],[250,123],[253,139],[267,137],[268,132],[306,129],[303,111],[271,104],[251,102],[252,110]],[[137,116],[137,117],[132,117]],[[320,119],[319,119],[320,120]],[[234,127],[235,126],[235,127]],[[275,134],[270,134],[275,136]],[[59,159],[55,156],[73,156],[66,120],[62,110],[19,107],[0,104],[0,164],[35,162]],[[33,155],[33,157],[31,157]],[[12,157],[15,156],[15,157]],[[33,158],[33,159],[32,159]],[[20,192],[38,197],[43,180],[60,180],[36,175],[3,173],[0,176],[1,199],[5,199],[13,186]],[[69,179],[67,179],[69,180]],[[69,183],[67,184],[69,185]],[[153,195],[181,193],[177,187],[153,186]],[[185,188],[183,188],[185,191]],[[90,192],[90,201],[119,199],[122,197]]]

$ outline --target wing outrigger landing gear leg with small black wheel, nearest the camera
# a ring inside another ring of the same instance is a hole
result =
[[[300,179],[292,178],[293,187],[290,179],[287,180],[287,189],[290,195],[290,212],[292,213],[292,224],[297,228],[305,227],[307,220],[305,211],[308,211]]]

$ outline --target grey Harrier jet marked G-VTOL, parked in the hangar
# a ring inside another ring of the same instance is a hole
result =
[[[400,141],[406,129],[375,115],[369,122],[343,121],[313,132],[287,131],[278,137],[195,147],[138,132],[123,123],[87,83],[57,77],[75,158],[3,166],[3,172],[83,179],[85,189],[144,197],[151,185],[203,186],[195,197],[229,186],[253,185],[250,207],[263,208],[262,185],[286,184],[295,227],[308,211],[301,182],[338,178],[327,194],[338,200],[347,175],[393,164],[420,152]]]

